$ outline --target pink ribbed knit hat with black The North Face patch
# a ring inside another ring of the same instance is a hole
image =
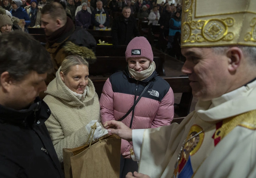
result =
[[[151,45],[145,37],[133,38],[125,51],[125,58],[128,61],[129,58],[144,57],[153,62],[153,52]]]

